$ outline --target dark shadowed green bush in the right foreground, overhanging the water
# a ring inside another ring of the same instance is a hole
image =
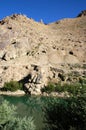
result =
[[[45,130],[86,130],[86,97],[51,98],[44,113]]]

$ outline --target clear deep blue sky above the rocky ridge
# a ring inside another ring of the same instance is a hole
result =
[[[0,0],[0,20],[21,13],[36,21],[50,23],[76,17],[86,9],[86,0]]]

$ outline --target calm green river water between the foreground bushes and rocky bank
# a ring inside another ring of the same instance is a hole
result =
[[[17,106],[17,112],[20,117],[32,116],[37,130],[44,127],[43,106],[48,97],[39,96],[0,96],[0,101],[7,100]]]

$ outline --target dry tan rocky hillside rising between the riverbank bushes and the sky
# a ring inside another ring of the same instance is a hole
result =
[[[41,94],[49,81],[86,76],[84,14],[48,25],[17,14],[0,21],[0,87],[17,80],[28,93]]]

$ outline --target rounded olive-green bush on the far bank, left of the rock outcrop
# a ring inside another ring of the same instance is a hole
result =
[[[22,90],[23,85],[22,83],[19,83],[17,81],[10,81],[10,82],[5,82],[4,87],[1,89],[2,91],[17,91],[17,90]]]

